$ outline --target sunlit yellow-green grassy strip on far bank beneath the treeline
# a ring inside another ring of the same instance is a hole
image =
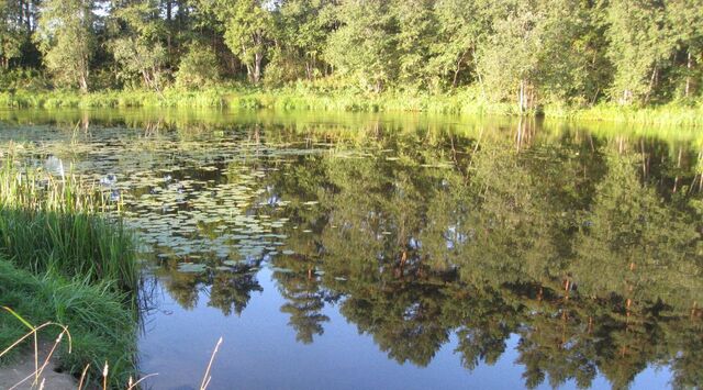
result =
[[[473,89],[447,94],[389,91],[380,94],[355,91],[316,91],[311,89],[235,89],[202,91],[167,89],[154,91],[77,92],[0,92],[5,108],[230,108],[312,111],[413,111],[443,114],[516,114],[516,105],[490,102]],[[533,112],[534,114],[535,112]],[[540,108],[548,118],[588,119],[658,125],[703,125],[703,103],[669,103],[636,108],[615,104],[573,108],[558,104]]]

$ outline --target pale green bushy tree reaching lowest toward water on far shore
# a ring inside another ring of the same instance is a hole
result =
[[[490,33],[478,44],[482,88],[493,99],[516,101],[520,111],[534,110],[550,94],[560,101],[584,96],[588,11],[580,1],[493,7]]]

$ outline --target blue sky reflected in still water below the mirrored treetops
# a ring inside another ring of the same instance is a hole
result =
[[[217,338],[224,343],[212,368],[212,389],[520,389],[524,367],[515,365],[520,341],[512,335],[507,348],[493,366],[479,365],[473,371],[461,367],[454,353],[456,336],[445,344],[424,368],[399,365],[379,350],[370,335],[359,335],[355,324],[334,305],[324,314],[331,321],[325,332],[309,345],[295,342],[295,331],[287,326],[289,315],[280,312],[286,300],[278,293],[271,271],[263,269],[264,287],[254,293],[241,316],[224,316],[207,307],[204,292],[193,310],[183,310],[168,293],[157,293],[160,311],[149,317],[147,335],[140,343],[142,369],[158,372],[147,383],[154,389],[197,389]],[[632,389],[668,387],[669,370],[648,368]],[[599,376],[595,389],[610,389]],[[539,387],[548,389],[548,381]],[[563,389],[574,389],[569,381]]]

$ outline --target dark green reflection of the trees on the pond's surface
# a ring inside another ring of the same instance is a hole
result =
[[[623,388],[652,365],[677,387],[703,383],[700,145],[526,120],[469,136],[379,122],[242,130],[257,149],[232,164],[268,169],[247,213],[288,219],[283,246],[227,270],[154,259],[183,308],[208,297],[239,315],[268,266],[301,343],[323,336],[334,304],[399,363],[426,366],[456,336],[472,370],[517,335],[528,387],[602,374]],[[264,144],[328,151],[266,158]]]

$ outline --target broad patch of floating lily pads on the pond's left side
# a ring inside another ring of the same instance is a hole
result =
[[[77,135],[46,127],[29,135],[22,157],[92,180],[140,231],[143,250],[178,258],[180,271],[234,269],[291,254],[280,248],[286,235],[278,232],[288,219],[268,213],[288,202],[269,193],[264,178],[289,158],[324,149],[226,135],[183,141],[172,132],[97,129]]]

